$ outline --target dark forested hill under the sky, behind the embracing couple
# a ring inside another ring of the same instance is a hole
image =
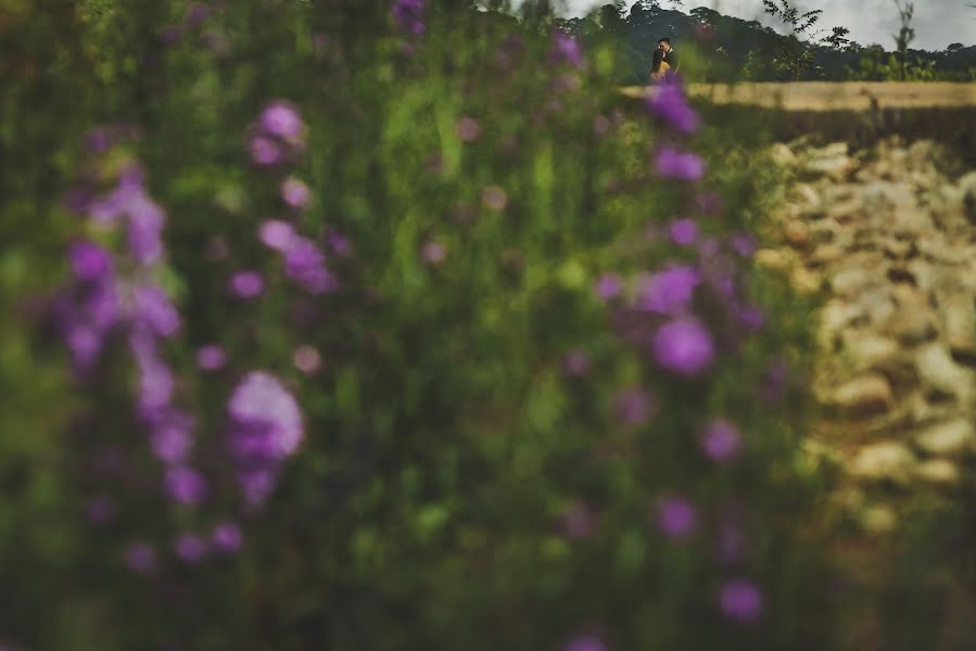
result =
[[[892,10],[893,11],[893,10]],[[974,10],[976,17],[976,10]],[[836,25],[828,13],[819,16],[815,29],[829,33]],[[630,10],[623,2],[607,4],[591,15],[563,22],[563,28],[581,38],[616,38],[620,43],[622,84],[642,84],[650,67],[650,54],[657,40],[670,37],[676,48],[697,41],[718,54],[707,75],[711,80],[750,79],[776,81],[799,79],[884,80],[902,78],[898,56],[891,50],[893,39],[882,44],[851,42],[831,48],[797,40],[764,27],[758,21],[745,21],[699,7],[688,13],[669,10],[656,2],[637,2]],[[784,50],[801,55],[809,49],[809,66],[796,74],[779,61]],[[929,52],[909,47],[907,79],[976,80],[976,44],[952,43],[946,50]]]

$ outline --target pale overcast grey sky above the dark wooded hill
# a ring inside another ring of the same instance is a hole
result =
[[[566,0],[572,15],[582,15],[594,5],[607,1]],[[976,9],[966,7],[972,0],[915,0],[915,40],[913,48],[943,50],[949,43],[976,44]],[[628,5],[633,2],[628,1]],[[669,3],[663,1],[668,7]],[[844,25],[851,30],[851,38],[862,46],[880,43],[887,50],[893,48],[891,34],[899,27],[893,0],[798,0],[801,10],[821,9],[819,26],[831,28]],[[778,27],[762,13],[761,0],[685,0],[685,12],[694,7],[711,7],[724,14],[747,20],[758,20],[773,28]]]

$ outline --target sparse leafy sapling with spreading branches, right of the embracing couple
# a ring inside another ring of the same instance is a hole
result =
[[[840,51],[850,43],[847,27],[834,27],[831,34],[824,36],[825,30],[815,29],[820,21],[822,10],[815,9],[806,13],[789,3],[789,0],[762,0],[765,13],[783,22],[790,29],[790,34],[779,39],[778,52],[773,58],[773,63],[794,79],[799,79],[803,73],[815,69],[815,56],[817,48],[828,48]]]

